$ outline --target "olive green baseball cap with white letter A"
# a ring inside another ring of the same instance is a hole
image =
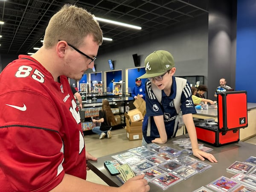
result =
[[[144,63],[146,73],[139,77],[141,79],[161,76],[175,66],[172,54],[164,50],[152,52],[145,58]]]

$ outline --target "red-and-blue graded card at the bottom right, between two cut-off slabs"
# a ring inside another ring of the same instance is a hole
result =
[[[214,189],[216,191],[227,192],[230,191],[231,189],[234,189],[238,185],[239,183],[237,181],[221,176],[215,181],[209,183],[207,187]]]

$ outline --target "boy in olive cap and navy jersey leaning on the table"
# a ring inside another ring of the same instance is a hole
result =
[[[143,119],[142,144],[151,142],[163,144],[171,137],[175,137],[178,127],[175,119],[179,117],[175,109],[177,104],[182,111],[182,119],[191,140],[193,155],[200,160],[207,158],[212,163],[217,162],[212,154],[201,151],[198,147],[192,118],[192,114],[196,111],[191,98],[190,84],[185,79],[174,77],[176,68],[172,54],[165,50],[154,51],[145,58],[144,63],[146,73],[139,77],[148,78],[145,81],[146,115]],[[153,91],[154,87],[155,91]],[[160,99],[157,94],[159,92]]]

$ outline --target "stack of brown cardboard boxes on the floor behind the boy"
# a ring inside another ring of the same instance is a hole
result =
[[[143,137],[142,123],[146,113],[146,103],[144,99],[138,96],[138,99],[135,99],[133,104],[136,109],[125,113],[126,137],[129,140],[141,140]]]

